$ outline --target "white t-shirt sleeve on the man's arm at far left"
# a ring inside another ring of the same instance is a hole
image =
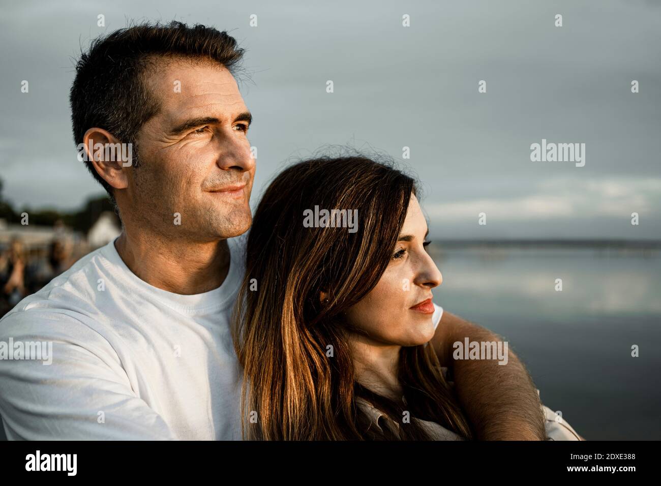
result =
[[[110,343],[81,321],[15,312],[0,321],[2,343],[7,346],[0,359],[0,416],[8,439],[176,440],[134,393]],[[6,354],[9,344],[13,359]],[[21,345],[32,346],[23,355],[31,359],[17,359]]]

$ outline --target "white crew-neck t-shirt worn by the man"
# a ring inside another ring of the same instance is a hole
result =
[[[113,241],[24,298],[0,320],[7,438],[240,439],[230,318],[243,243],[228,240],[229,274],[204,294],[173,294],[143,282]],[[26,342],[43,342],[46,354],[52,343],[50,358],[18,359]]]

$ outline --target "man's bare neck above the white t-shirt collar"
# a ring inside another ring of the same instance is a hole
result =
[[[221,286],[229,272],[227,240],[188,243],[165,241],[126,230],[115,241],[117,253],[134,274],[147,284],[175,294],[194,295]]]

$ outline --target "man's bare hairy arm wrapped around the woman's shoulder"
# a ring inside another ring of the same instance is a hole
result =
[[[545,440],[544,416],[535,385],[524,364],[508,350],[507,364],[498,359],[454,360],[453,343],[502,341],[488,329],[447,311],[432,338],[442,366],[480,440]]]

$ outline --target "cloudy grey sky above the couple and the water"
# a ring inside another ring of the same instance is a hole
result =
[[[128,20],[212,25],[247,50],[253,207],[286,165],[351,145],[418,177],[432,237],[661,239],[661,2],[3,1],[0,177],[15,205],[103,193],[77,161],[68,94],[81,47]],[[531,161],[543,139],[584,143],[585,165]]]

